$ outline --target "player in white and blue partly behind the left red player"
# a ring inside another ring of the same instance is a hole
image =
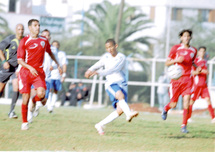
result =
[[[66,78],[66,69],[67,69],[67,64],[68,61],[66,59],[66,53],[63,51],[59,51],[60,48],[60,43],[58,41],[53,41],[52,42],[52,47],[51,48],[53,54],[55,54],[60,66],[63,69],[63,74],[62,76],[60,75],[59,71],[57,70],[57,65],[52,62],[52,67],[53,70],[51,71],[51,91],[49,93],[49,98],[47,101],[47,110],[52,113],[53,109],[54,109],[54,105],[57,101],[57,93],[58,91],[61,90],[62,88],[62,83],[64,82],[65,78]]]

